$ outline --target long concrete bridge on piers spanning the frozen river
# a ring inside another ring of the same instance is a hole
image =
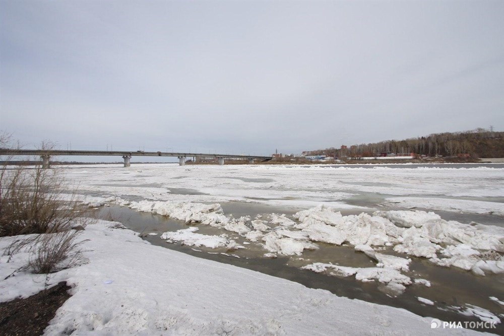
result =
[[[121,156],[124,160],[124,167],[130,167],[130,159],[132,156],[173,156],[178,158],[181,166],[185,164],[185,158],[217,158],[219,164],[224,164],[224,159],[243,159],[248,160],[249,164],[253,164],[254,160],[268,161],[271,156],[255,156],[255,155],[232,155],[232,154],[205,154],[205,153],[170,153],[170,152],[125,152],[125,151],[60,151],[60,150],[29,150],[29,149],[0,149],[0,155],[6,156],[40,156],[42,159],[42,167],[49,168],[49,159],[51,156]]]

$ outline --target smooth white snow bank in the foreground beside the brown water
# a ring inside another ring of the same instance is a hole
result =
[[[50,284],[73,288],[45,334],[476,333],[432,329],[431,318],[153,246],[114,226],[88,225],[82,264],[51,275]],[[0,248],[9,240],[0,240]],[[3,256],[0,277],[27,258],[20,252],[6,263]],[[43,275],[18,273],[0,283],[1,300],[27,297],[44,284]]]

